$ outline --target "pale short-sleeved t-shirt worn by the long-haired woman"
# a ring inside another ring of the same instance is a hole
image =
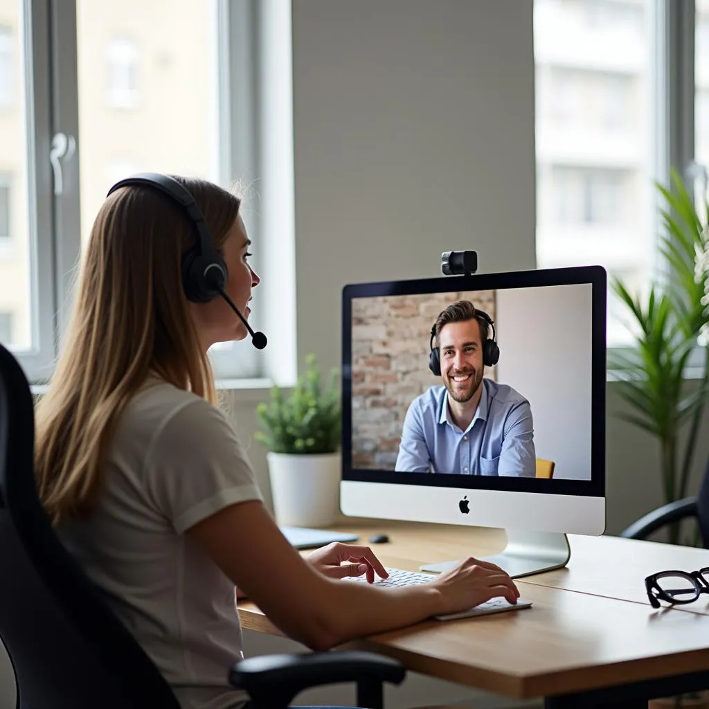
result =
[[[118,423],[104,480],[91,516],[57,532],[184,709],[240,707],[245,693],[227,678],[243,657],[234,584],[184,533],[261,499],[233,427],[208,401],[152,381]]]

